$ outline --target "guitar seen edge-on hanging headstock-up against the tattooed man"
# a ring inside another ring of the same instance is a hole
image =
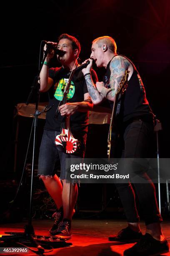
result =
[[[109,159],[115,157],[115,148],[116,148],[116,141],[117,141],[117,127],[116,127],[117,102],[120,100],[121,95],[124,94],[124,92],[128,87],[129,72],[130,71],[128,70],[125,71],[125,74],[122,77],[115,93],[115,100],[113,104],[112,115],[110,118],[110,127],[109,127],[109,133],[107,138],[107,146],[108,146],[107,155]]]

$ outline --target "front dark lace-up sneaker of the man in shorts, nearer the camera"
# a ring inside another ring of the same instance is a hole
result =
[[[71,233],[71,221],[68,219],[63,219],[62,222],[58,225],[58,231],[55,234],[55,237],[68,240],[72,238]]]

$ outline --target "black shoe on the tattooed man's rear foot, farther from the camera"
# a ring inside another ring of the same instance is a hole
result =
[[[142,232],[135,232],[131,228],[123,228],[120,230],[116,235],[110,236],[108,239],[109,241],[120,241],[120,242],[126,242],[126,241],[139,241],[142,237]]]

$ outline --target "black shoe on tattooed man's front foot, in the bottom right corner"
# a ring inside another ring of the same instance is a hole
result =
[[[131,248],[124,251],[124,256],[153,256],[169,252],[169,246],[166,239],[158,241],[150,234],[146,233],[141,240]]]

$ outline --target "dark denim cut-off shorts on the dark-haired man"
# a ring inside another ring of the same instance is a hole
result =
[[[55,137],[59,134],[60,132],[57,131],[44,130],[38,159],[38,175],[55,175],[56,162],[60,161],[60,179],[65,179],[65,159],[84,157],[87,133],[73,133],[73,136],[80,141],[80,148],[74,154],[66,154],[57,149],[57,146],[55,145]]]

